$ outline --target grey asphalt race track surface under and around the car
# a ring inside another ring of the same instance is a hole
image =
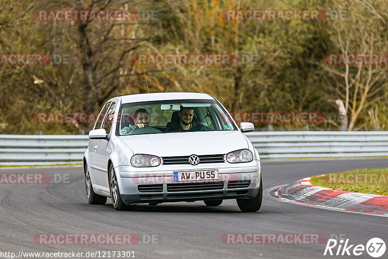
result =
[[[206,207],[198,201],[116,211],[110,199],[106,205],[87,203],[81,167],[3,169],[0,173],[47,173],[51,179],[54,174],[68,174],[69,178],[60,183],[0,185],[0,252],[134,251],[135,258],[169,259],[330,258],[323,256],[326,243],[227,244],[221,237],[225,233],[323,233],[327,238],[346,235],[349,243],[364,245],[379,237],[388,245],[387,217],[293,204],[270,194],[276,186],[307,176],[385,167],[388,159],[262,162],[263,205],[255,213],[240,212],[235,200],[219,207]],[[35,235],[48,233],[132,233],[141,243],[34,243]],[[144,244],[143,239],[148,241],[151,235],[154,243]],[[364,252],[357,258],[371,257]],[[388,249],[381,258],[388,258]]]

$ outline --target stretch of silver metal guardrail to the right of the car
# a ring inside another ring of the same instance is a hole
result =
[[[265,131],[246,136],[265,159],[388,156],[388,131]]]

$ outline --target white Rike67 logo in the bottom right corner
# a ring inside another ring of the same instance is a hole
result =
[[[380,238],[370,239],[366,245],[363,244],[350,244],[349,239],[339,240],[329,239],[324,249],[323,255],[331,256],[360,256],[368,253],[371,257],[379,258],[385,254],[386,244]]]

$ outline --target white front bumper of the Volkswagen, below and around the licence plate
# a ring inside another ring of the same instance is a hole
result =
[[[116,175],[120,176],[117,180],[121,198],[127,205],[254,198],[259,193],[260,187],[259,161],[250,163],[249,166],[217,168],[213,164],[211,167],[207,165],[207,167],[195,168],[196,170],[217,169],[218,179],[184,182],[174,182],[173,170],[134,173],[125,172],[128,170],[123,169],[127,168],[120,167],[116,167],[115,170]],[[186,170],[193,170],[193,168],[188,167]],[[240,183],[243,183],[243,186]],[[148,190],[146,192],[139,191],[139,185]],[[185,188],[180,188],[179,185],[185,186]],[[148,186],[155,187],[156,191],[147,188]]]

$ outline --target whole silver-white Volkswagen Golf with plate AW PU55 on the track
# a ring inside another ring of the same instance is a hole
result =
[[[116,210],[136,204],[237,199],[242,211],[262,201],[259,153],[214,97],[154,93],[107,101],[84,153],[90,204],[112,199]]]

